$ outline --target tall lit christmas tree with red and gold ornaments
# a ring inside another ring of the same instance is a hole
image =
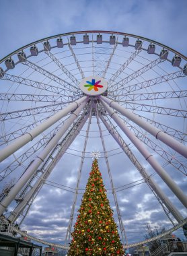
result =
[[[96,158],[78,212],[68,256],[124,255]]]

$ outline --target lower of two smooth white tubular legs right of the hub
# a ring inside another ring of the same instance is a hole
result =
[[[101,100],[102,105],[109,113],[110,117],[116,121],[118,126],[122,129],[122,131],[126,134],[126,136],[133,142],[137,150],[144,156],[145,160],[149,162],[149,164],[153,167],[153,169],[159,174],[161,179],[167,184],[168,187],[173,191],[173,193],[178,197],[178,199],[182,202],[182,204],[187,207],[187,197],[184,195],[182,190],[176,185],[176,183],[172,180],[172,178],[165,172],[165,170],[161,167],[161,165],[155,160],[155,158],[149,153],[145,145],[135,136],[128,127],[126,127],[125,123],[116,115],[114,110],[110,108],[103,100]]]

